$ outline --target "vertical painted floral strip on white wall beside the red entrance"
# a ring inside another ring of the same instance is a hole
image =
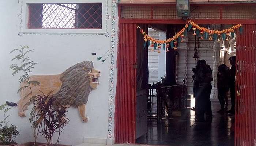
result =
[[[113,139],[113,112],[114,112],[114,50],[116,47],[116,8],[120,0],[112,0],[111,11],[111,49],[110,49],[110,78],[109,78],[109,118],[108,118],[108,139]]]

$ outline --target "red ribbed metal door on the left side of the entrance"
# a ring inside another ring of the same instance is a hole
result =
[[[120,24],[115,110],[116,143],[135,143],[136,24]]]

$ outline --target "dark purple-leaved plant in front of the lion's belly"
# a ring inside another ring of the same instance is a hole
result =
[[[54,146],[60,141],[60,132],[63,132],[63,127],[68,123],[69,119],[66,118],[68,106],[53,105],[56,97],[45,95],[36,95],[33,99],[35,102],[35,110],[38,111],[37,119],[39,127],[41,128],[40,134],[44,135],[49,146]],[[57,133],[57,142],[53,143],[53,135]]]

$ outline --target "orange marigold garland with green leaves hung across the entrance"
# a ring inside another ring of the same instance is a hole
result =
[[[204,34],[205,32],[207,32],[209,35],[212,34],[217,34],[217,35],[221,35],[221,34],[228,34],[230,32],[234,32],[235,30],[237,30],[238,28],[240,28],[242,26],[242,24],[237,24],[235,26],[232,26],[228,29],[225,30],[208,30],[207,28],[204,27],[200,27],[199,25],[197,25],[195,22],[189,20],[188,23],[185,25],[185,27],[183,27],[179,32],[177,32],[176,35],[174,35],[174,37],[166,39],[166,40],[158,40],[155,38],[150,37],[149,35],[146,34],[145,31],[143,31],[143,29],[141,29],[139,26],[137,26],[138,29],[140,29],[140,32],[142,33],[142,35],[144,36],[144,41],[147,42],[148,40],[150,40],[153,43],[157,43],[157,44],[162,44],[162,43],[170,43],[172,41],[176,41],[179,37],[181,38],[181,41],[183,42],[183,37],[184,37],[184,32],[185,30],[189,27],[189,30],[191,27],[193,27],[193,30],[199,30],[200,34]],[[188,31],[189,31],[188,30]],[[194,33],[195,34],[195,33]]]

